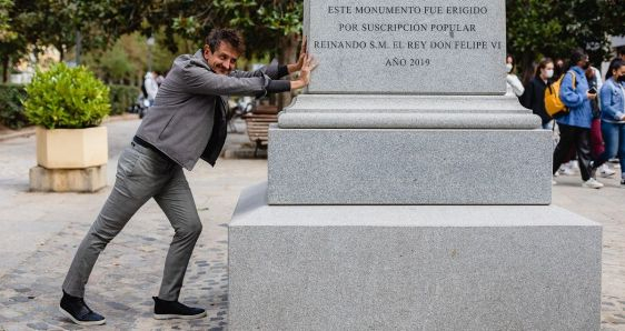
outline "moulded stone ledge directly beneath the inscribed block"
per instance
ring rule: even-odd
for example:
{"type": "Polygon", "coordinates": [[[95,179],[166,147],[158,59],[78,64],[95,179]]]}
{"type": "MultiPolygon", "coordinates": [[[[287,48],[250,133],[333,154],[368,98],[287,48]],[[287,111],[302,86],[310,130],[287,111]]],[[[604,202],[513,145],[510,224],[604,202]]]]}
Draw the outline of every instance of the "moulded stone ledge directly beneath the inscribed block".
{"type": "Polygon", "coordinates": [[[537,129],[540,118],[507,96],[300,94],[281,129],[537,129]]]}

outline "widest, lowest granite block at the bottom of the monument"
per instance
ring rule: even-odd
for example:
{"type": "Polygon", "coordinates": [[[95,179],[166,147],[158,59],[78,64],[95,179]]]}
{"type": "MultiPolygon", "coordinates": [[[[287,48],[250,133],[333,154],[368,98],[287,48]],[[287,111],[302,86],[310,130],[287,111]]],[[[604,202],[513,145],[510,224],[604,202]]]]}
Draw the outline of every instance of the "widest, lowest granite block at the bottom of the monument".
{"type": "Polygon", "coordinates": [[[268,205],[229,227],[229,330],[599,330],[602,228],[546,205],[268,205]]]}

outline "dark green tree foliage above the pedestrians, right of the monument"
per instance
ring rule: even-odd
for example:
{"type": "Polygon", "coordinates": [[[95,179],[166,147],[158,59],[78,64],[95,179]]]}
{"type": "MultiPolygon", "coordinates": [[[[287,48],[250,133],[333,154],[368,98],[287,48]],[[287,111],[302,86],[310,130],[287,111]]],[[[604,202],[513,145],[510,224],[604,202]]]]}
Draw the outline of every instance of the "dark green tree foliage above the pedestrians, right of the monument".
{"type": "Polygon", "coordinates": [[[567,59],[575,48],[598,64],[609,56],[608,34],[625,34],[623,0],[507,0],[506,9],[508,52],[526,73],[542,57],[567,59]]]}

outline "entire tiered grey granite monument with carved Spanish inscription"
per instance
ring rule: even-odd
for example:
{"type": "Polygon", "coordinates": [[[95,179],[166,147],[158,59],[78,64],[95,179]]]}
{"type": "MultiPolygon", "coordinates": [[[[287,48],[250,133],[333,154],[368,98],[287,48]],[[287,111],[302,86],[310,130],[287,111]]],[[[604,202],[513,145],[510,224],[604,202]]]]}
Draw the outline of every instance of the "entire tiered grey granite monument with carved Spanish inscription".
{"type": "Polygon", "coordinates": [[[319,59],[229,227],[230,330],[598,330],[602,229],[550,204],[504,0],[308,0],[319,59]]]}

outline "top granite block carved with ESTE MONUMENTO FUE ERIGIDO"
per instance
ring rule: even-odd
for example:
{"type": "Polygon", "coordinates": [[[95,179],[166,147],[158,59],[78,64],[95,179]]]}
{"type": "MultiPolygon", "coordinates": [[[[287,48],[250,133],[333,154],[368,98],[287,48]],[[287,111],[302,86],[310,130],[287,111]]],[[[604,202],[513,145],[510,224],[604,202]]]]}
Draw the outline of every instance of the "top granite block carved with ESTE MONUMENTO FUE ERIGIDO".
{"type": "Polygon", "coordinates": [[[505,93],[504,0],[306,0],[304,17],[310,93],[505,93]]]}

